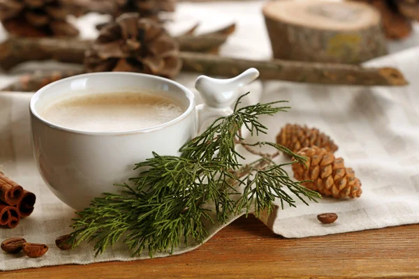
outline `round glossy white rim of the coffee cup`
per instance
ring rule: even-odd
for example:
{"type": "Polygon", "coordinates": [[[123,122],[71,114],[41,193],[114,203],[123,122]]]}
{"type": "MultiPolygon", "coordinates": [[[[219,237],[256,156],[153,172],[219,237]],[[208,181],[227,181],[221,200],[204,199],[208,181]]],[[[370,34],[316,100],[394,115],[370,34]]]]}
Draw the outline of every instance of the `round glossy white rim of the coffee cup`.
{"type": "Polygon", "coordinates": [[[126,72],[87,73],[87,74],[75,75],[73,77],[67,77],[67,78],[62,79],[62,80],[57,80],[56,82],[52,82],[51,84],[48,84],[48,85],[44,86],[43,88],[39,89],[38,91],[36,91],[34,96],[32,96],[31,103],[29,105],[29,109],[31,111],[31,114],[33,114],[38,120],[42,121],[47,126],[50,126],[52,128],[56,128],[57,130],[64,130],[66,132],[77,133],[77,134],[82,134],[82,135],[126,135],[126,134],[136,134],[136,133],[149,133],[149,132],[152,132],[154,130],[161,130],[163,128],[166,128],[167,126],[171,126],[174,123],[178,123],[179,121],[182,121],[182,119],[186,118],[186,116],[191,114],[191,112],[194,110],[194,108],[195,108],[195,96],[193,95],[191,90],[187,89],[182,84],[179,84],[178,82],[174,82],[172,80],[168,80],[164,77],[157,77],[156,75],[147,75],[147,74],[140,74],[140,73],[126,73],[126,72]],[[45,93],[45,91],[48,91],[52,86],[54,86],[58,83],[64,82],[64,81],[77,80],[77,79],[82,78],[82,77],[91,77],[91,76],[95,76],[95,75],[102,75],[104,77],[107,76],[107,75],[110,75],[110,76],[112,76],[112,75],[131,75],[131,76],[135,76],[135,77],[144,77],[144,78],[149,78],[149,79],[153,79],[153,80],[158,80],[158,81],[160,81],[162,83],[166,83],[166,84],[172,84],[173,86],[176,86],[183,91],[186,98],[188,98],[188,100],[189,100],[189,106],[181,115],[177,116],[177,118],[172,119],[172,120],[170,120],[166,123],[163,123],[161,125],[154,126],[154,127],[151,127],[151,128],[138,129],[138,130],[127,130],[127,131],[119,131],[119,132],[90,132],[90,131],[77,130],[77,129],[73,129],[73,128],[67,128],[67,127],[64,127],[64,126],[59,126],[59,125],[54,124],[50,121],[47,121],[46,119],[43,119],[43,117],[41,115],[39,115],[38,112],[36,111],[36,109],[35,109],[36,103],[41,98],[42,94],[45,93]]]}

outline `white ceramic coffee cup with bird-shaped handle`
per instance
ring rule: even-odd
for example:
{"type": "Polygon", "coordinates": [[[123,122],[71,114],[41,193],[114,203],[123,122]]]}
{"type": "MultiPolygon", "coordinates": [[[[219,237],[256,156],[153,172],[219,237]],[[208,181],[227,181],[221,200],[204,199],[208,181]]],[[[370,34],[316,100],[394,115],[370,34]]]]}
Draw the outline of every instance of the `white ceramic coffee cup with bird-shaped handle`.
{"type": "Polygon", "coordinates": [[[193,93],[177,82],[137,73],[92,73],[49,84],[31,98],[31,141],[39,172],[52,193],[75,210],[89,206],[102,193],[115,193],[114,183],[138,174],[135,163],[159,155],[179,155],[179,148],[195,137],[204,121],[232,113],[240,87],[255,80],[251,68],[229,80],[200,76],[196,89],[204,104],[196,106],[193,93]],[[66,96],[92,93],[164,92],[186,110],[162,125],[127,132],[85,132],[46,121],[43,110],[66,96]]]}

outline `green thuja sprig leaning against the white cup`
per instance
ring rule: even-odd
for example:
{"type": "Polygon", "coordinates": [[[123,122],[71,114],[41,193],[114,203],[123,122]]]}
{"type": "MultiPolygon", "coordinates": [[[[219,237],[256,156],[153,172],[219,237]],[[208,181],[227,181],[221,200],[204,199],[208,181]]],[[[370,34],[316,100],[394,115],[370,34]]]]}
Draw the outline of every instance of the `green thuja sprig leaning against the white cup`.
{"type": "Polygon", "coordinates": [[[121,195],[105,193],[95,198],[74,220],[68,243],[75,247],[82,241],[94,241],[98,255],[122,240],[133,255],[147,250],[152,257],[156,252],[173,252],[182,242],[202,242],[207,236],[206,223],[226,223],[243,209],[259,216],[263,210],[272,211],[275,199],[284,208],[284,204],[295,206],[293,195],[305,204],[319,197],[301,182],[292,181],[284,165],[272,160],[279,152],[294,156],[299,163],[304,163],[304,157],[272,142],[247,144],[242,137],[242,126],[251,135],[267,133],[259,116],[285,112],[289,107],[277,107],[282,102],[274,102],[238,108],[241,98],[233,114],[216,119],[203,134],[184,144],[181,156],[153,153],[152,158],[136,164],[137,177],[117,185],[121,195]],[[244,156],[236,151],[237,144],[260,159],[242,165],[244,156]],[[263,145],[277,153],[254,149],[263,145]]]}

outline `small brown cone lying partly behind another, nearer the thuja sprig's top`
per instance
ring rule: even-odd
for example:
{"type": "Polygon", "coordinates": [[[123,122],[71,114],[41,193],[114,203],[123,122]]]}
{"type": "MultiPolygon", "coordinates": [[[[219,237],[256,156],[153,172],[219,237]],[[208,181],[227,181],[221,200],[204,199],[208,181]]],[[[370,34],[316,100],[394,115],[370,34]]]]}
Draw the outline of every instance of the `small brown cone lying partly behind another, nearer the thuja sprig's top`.
{"type": "Polygon", "coordinates": [[[307,126],[286,124],[277,135],[277,144],[285,146],[294,153],[303,147],[318,146],[325,148],[328,152],[335,153],[337,145],[330,140],[330,137],[321,133],[316,128],[307,126]]]}

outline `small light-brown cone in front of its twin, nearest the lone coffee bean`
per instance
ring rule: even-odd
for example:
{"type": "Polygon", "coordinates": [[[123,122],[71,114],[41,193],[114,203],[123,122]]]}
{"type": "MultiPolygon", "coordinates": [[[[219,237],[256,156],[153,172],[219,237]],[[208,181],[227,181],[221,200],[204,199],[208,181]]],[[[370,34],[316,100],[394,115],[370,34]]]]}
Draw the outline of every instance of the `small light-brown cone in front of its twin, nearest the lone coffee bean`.
{"type": "Polygon", "coordinates": [[[332,153],[317,146],[305,147],[297,154],[308,157],[309,169],[304,164],[293,164],[295,179],[312,180],[312,182],[303,183],[303,186],[325,196],[360,197],[361,182],[355,177],[353,169],[345,168],[344,159],[335,158],[332,153]]]}

